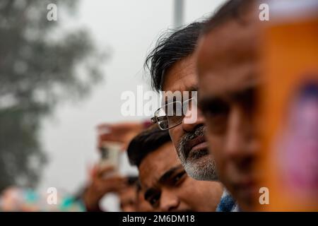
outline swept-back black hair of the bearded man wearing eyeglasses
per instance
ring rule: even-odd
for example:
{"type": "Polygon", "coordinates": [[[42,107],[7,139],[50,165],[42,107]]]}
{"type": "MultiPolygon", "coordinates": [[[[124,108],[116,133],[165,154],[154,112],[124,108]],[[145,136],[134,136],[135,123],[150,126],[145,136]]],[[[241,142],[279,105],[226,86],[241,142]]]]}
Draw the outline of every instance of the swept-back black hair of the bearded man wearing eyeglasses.
{"type": "Polygon", "coordinates": [[[151,73],[151,86],[154,90],[162,90],[167,69],[194,52],[202,28],[204,22],[196,22],[181,30],[172,30],[161,35],[155,49],[148,54],[145,61],[145,67],[151,73]]]}

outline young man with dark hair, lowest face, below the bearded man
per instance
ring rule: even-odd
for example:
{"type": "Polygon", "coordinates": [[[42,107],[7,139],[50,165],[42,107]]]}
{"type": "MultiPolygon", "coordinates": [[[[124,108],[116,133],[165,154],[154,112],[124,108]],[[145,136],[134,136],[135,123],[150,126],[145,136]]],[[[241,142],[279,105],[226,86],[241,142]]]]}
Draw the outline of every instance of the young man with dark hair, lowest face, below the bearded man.
{"type": "Polygon", "coordinates": [[[146,201],[158,211],[215,211],[223,186],[189,177],[174,149],[169,133],[156,127],[129,144],[129,160],[139,168],[146,201]]]}

